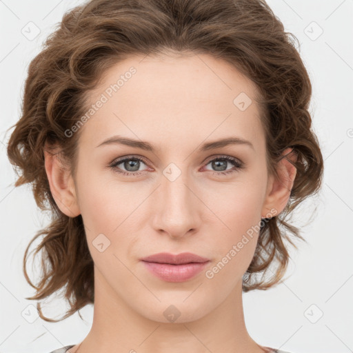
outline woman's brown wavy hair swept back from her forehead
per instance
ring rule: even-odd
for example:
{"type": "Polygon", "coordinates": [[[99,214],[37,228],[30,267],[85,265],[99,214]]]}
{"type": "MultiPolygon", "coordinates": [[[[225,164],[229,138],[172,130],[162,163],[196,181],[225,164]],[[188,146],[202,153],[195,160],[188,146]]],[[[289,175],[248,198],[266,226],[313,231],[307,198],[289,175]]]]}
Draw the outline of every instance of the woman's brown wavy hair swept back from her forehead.
{"type": "Polygon", "coordinates": [[[41,319],[61,321],[94,303],[93,260],[83,220],[81,214],[70,217],[57,207],[43,149],[58,154],[76,175],[80,132],[68,138],[65,130],[88,110],[88,92],[105,70],[133,54],[211,54],[256,84],[268,171],[277,175],[281,153],[292,147],[297,159],[291,163],[297,172],[285,210],[261,222],[243,292],[266,290],[281,280],[290,259],[285,241],[294,248],[292,239],[305,241],[285,218],[307,196],[319,192],[323,177],[323,157],[308,111],[312,86],[298,42],[262,0],[92,0],[63,15],[30,62],[21,119],[10,127],[15,128],[7,149],[18,177],[14,185],[31,183],[38,207],[51,216],[50,225],[37,232],[23,257],[26,280],[36,290],[26,299],[44,299],[63,289],[70,304],[65,316],[54,320],[43,316],[38,302],[41,319]],[[43,239],[34,256],[41,252],[42,273],[34,285],[26,263],[30,245],[39,236],[43,239]],[[273,263],[276,268],[269,276],[273,263]]]}

